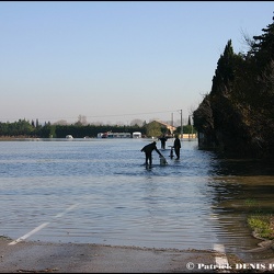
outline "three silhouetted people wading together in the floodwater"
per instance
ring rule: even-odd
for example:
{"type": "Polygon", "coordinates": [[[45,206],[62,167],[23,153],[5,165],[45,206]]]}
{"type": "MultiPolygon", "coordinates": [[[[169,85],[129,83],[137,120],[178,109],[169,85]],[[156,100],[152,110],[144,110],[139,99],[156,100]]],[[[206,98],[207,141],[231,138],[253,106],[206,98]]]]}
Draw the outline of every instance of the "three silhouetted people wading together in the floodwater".
{"type": "MultiPolygon", "coordinates": [[[[161,149],[165,149],[165,142],[168,140],[168,138],[163,135],[159,138],[159,140],[161,141],[161,149]]],[[[174,152],[175,152],[175,156],[176,156],[176,159],[175,160],[179,160],[180,159],[180,150],[181,150],[181,140],[179,139],[179,135],[176,134],[175,135],[175,139],[173,141],[173,146],[171,146],[171,149],[174,149],[174,152]]],[[[151,144],[149,145],[146,145],[140,151],[141,152],[145,152],[146,155],[146,165],[149,165],[151,167],[152,164],[152,151],[156,151],[160,158],[164,159],[163,155],[160,152],[160,150],[157,148],[157,145],[156,145],[156,141],[152,141],[151,144]]]]}

